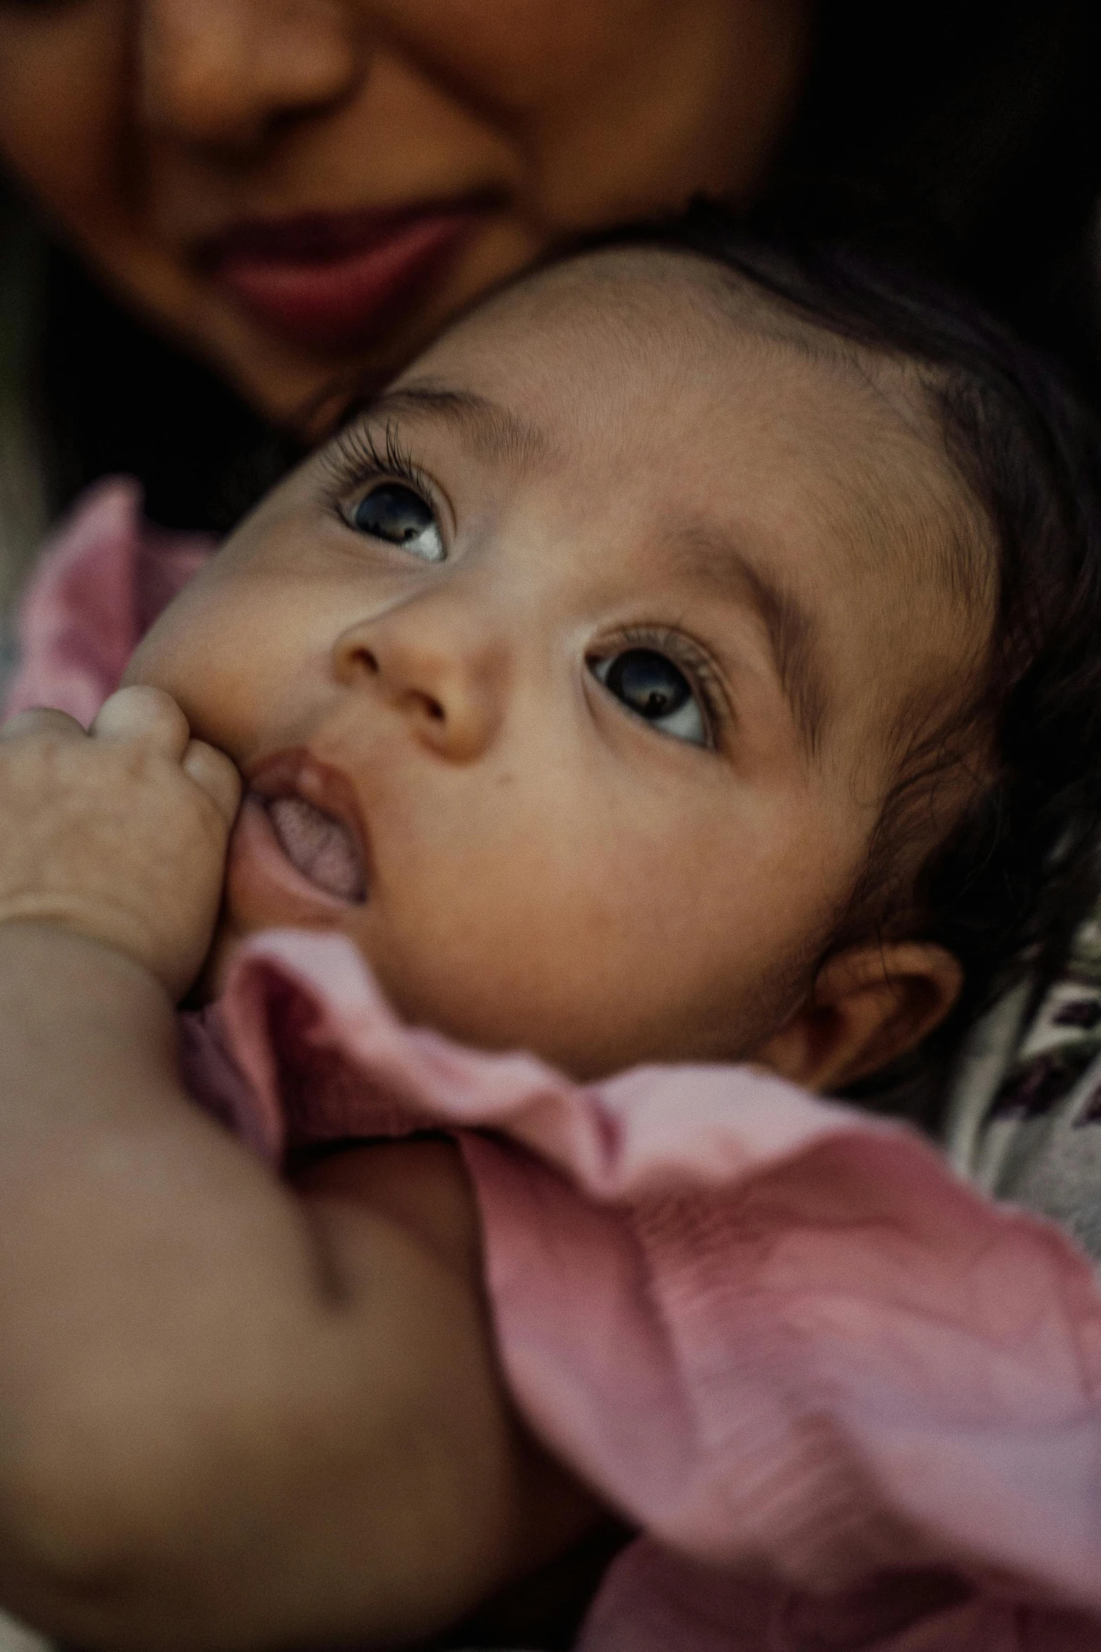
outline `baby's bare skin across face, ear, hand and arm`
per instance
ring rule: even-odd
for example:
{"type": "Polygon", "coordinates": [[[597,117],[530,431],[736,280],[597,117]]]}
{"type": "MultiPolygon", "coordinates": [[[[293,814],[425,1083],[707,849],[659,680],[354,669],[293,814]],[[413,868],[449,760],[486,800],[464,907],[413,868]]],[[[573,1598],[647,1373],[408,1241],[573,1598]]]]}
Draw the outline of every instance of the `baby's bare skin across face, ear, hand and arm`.
{"type": "Polygon", "coordinates": [[[399,380],[390,476],[357,430],[261,506],[91,737],[3,730],[0,1601],[58,1639],[399,1645],[505,1591],[538,1645],[517,1581],[607,1513],[510,1408],[449,1143],[287,1184],[188,1105],[172,1001],[211,933],[213,986],[258,927],[342,930],[404,1014],[578,1074],[830,1085],[949,1008],[934,947],[817,960],[893,720],[990,613],[943,578],[959,484],[906,372],[809,342],[688,259],[528,282],[399,380]],[[355,525],[383,482],[413,542],[355,525]],[[680,733],[601,677],[640,639],[706,682],[680,733]],[[370,843],[365,900],[258,786],[370,843]]]}

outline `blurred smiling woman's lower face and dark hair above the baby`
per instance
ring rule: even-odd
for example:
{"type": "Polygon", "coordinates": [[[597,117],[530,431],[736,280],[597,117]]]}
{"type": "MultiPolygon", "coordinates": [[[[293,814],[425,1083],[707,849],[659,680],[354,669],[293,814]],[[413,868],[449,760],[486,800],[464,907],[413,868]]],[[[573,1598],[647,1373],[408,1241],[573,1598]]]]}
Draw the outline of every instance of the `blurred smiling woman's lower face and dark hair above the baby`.
{"type": "Polygon", "coordinates": [[[315,436],[487,284],[697,190],[875,223],[1042,329],[1101,175],[1094,10],[0,0],[0,165],[51,231],[50,507],[124,469],[220,527],[272,428],[315,436]]]}

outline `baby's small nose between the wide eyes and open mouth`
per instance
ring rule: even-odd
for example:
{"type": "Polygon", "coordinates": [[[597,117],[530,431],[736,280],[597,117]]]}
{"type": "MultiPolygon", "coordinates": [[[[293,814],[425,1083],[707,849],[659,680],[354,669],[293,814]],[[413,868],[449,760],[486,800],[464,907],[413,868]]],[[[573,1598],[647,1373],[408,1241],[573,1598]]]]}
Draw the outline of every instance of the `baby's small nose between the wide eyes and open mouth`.
{"type": "Polygon", "coordinates": [[[390,705],[413,737],[452,763],[490,747],[508,694],[508,649],[454,616],[411,603],[348,626],[333,644],[333,676],[390,705]]]}

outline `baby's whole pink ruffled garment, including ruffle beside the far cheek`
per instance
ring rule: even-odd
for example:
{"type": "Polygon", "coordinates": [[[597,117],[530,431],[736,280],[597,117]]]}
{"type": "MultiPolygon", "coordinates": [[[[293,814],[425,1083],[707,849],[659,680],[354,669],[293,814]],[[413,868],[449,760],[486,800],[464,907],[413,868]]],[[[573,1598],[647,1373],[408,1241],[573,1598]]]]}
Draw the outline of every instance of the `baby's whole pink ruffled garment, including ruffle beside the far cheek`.
{"type": "MultiPolygon", "coordinates": [[[[15,705],[94,714],[149,560],[111,484],[28,596],[15,705]]],[[[576,1087],[403,1028],[337,937],[256,938],[182,1036],[271,1160],[457,1133],[515,1403],[645,1533],[581,1652],[1101,1652],[1101,1297],[1051,1224],[751,1069],[576,1087]]]]}

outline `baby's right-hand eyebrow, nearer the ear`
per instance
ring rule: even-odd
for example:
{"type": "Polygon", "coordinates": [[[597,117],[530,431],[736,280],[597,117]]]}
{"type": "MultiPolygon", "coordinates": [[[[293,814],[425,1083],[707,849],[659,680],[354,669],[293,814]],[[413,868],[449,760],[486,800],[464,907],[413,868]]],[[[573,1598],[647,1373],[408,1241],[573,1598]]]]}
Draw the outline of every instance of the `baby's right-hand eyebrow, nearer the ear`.
{"type": "Polygon", "coordinates": [[[764,626],[784,699],[810,757],[819,752],[827,710],[822,626],[799,596],[777,585],[721,532],[695,525],[675,537],[678,572],[697,585],[748,603],[764,626]]]}

